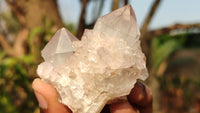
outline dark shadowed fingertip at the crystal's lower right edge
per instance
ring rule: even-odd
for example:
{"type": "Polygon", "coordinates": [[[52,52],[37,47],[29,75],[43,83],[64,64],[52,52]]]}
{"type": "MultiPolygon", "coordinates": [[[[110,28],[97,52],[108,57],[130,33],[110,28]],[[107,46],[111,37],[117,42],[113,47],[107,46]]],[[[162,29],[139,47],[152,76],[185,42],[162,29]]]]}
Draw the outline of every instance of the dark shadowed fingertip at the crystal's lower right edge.
{"type": "Polygon", "coordinates": [[[135,84],[127,97],[132,105],[137,106],[140,113],[152,113],[152,92],[141,82],[135,84]]]}

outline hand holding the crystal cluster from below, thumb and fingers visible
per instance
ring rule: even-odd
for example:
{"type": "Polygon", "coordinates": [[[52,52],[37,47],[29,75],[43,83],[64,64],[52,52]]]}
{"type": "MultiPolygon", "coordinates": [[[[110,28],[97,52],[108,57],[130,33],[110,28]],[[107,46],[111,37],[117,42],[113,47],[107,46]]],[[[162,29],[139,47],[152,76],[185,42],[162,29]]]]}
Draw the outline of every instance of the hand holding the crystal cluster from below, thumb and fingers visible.
{"type": "MultiPolygon", "coordinates": [[[[67,106],[58,102],[58,93],[51,85],[37,78],[32,87],[41,113],[72,113],[67,106]]],[[[152,113],[152,93],[142,83],[137,82],[127,97],[127,102],[106,105],[101,113],[152,113]]]]}

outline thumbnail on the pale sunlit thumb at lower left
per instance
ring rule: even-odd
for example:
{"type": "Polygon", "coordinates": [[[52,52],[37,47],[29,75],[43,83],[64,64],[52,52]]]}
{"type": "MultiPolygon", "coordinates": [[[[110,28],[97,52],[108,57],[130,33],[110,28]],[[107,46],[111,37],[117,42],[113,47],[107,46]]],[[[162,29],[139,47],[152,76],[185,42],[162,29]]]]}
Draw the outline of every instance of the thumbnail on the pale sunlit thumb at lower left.
{"type": "Polygon", "coordinates": [[[37,91],[35,91],[35,96],[39,102],[40,108],[47,109],[47,101],[45,100],[45,98],[37,91]]]}

